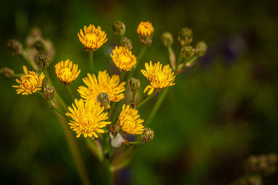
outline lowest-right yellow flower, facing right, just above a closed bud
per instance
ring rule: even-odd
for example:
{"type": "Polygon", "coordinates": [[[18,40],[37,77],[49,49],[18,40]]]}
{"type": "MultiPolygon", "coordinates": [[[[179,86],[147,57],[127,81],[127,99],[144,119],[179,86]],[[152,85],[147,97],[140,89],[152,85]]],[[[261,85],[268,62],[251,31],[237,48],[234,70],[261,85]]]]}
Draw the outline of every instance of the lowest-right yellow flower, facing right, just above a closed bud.
{"type": "Polygon", "coordinates": [[[129,134],[141,134],[144,129],[144,120],[140,119],[138,110],[131,108],[129,105],[122,105],[122,112],[119,116],[119,123],[122,130],[129,134]]]}

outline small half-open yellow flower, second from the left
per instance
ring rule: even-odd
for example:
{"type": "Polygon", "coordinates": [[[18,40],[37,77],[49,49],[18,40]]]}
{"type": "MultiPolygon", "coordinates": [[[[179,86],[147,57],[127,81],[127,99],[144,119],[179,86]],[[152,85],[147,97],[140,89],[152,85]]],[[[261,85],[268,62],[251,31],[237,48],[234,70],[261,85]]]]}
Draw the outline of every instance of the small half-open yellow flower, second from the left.
{"type": "Polygon", "coordinates": [[[71,82],[73,82],[79,76],[80,72],[81,70],[78,70],[78,65],[72,65],[72,61],[69,59],[67,59],[65,62],[61,61],[58,64],[55,64],[56,76],[64,85],[69,85],[71,82]]]}

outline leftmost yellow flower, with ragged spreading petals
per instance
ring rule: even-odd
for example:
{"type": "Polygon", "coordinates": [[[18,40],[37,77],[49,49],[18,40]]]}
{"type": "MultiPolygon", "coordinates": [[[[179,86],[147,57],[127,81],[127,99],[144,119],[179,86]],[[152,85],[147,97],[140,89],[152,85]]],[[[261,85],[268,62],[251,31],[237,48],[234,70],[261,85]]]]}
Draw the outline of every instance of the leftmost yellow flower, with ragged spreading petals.
{"type": "Polygon", "coordinates": [[[42,80],[44,79],[44,73],[38,76],[38,73],[34,71],[27,71],[26,66],[23,66],[24,75],[21,76],[20,80],[15,79],[19,85],[13,85],[18,88],[17,94],[28,95],[39,91],[42,87],[42,80]]]}

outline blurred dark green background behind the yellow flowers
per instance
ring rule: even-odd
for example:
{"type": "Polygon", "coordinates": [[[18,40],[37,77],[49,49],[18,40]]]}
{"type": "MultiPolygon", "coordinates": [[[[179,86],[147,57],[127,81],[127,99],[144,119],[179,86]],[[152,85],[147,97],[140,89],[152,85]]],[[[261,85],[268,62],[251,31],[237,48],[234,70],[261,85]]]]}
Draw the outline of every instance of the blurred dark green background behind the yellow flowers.
{"type": "MultiPolygon", "coordinates": [[[[161,34],[193,29],[193,45],[208,44],[208,52],[182,73],[152,121],[154,140],[138,148],[129,168],[117,173],[117,184],[229,184],[244,174],[250,155],[278,153],[278,16],[275,1],[1,1],[0,67],[17,73],[24,64],[7,54],[8,39],[25,39],[33,27],[42,30],[56,48],[50,69],[58,91],[54,64],[79,64],[76,89],[88,73],[88,53],[77,32],[95,24],[108,42],[95,53],[97,70],[111,66],[111,50],[119,43],[112,31],[115,20],[126,24],[126,36],[138,55],[140,21],[151,21],[153,43],[142,62],[167,64],[161,34]]],[[[142,89],[147,80],[140,74],[142,89]]],[[[81,184],[62,127],[38,94],[17,95],[11,78],[0,78],[1,184],[81,184]]],[[[66,91],[65,91],[66,92],[66,91]]],[[[70,95],[65,93],[70,105],[70,95]]],[[[77,94],[76,94],[77,96],[77,94]]],[[[145,94],[140,94],[144,98],[145,94]]],[[[142,111],[142,118],[153,100],[142,111]]],[[[97,160],[77,139],[90,179],[103,184],[97,160]]],[[[263,179],[278,184],[278,173],[263,179]]]]}

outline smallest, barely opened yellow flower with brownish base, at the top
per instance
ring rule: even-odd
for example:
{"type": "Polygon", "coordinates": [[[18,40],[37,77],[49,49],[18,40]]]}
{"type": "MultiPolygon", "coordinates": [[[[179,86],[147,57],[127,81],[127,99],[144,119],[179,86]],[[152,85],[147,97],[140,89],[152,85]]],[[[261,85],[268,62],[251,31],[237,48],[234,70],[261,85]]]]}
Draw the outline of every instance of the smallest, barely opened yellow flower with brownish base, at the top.
{"type": "Polygon", "coordinates": [[[152,34],[154,33],[154,27],[149,21],[141,21],[137,28],[137,33],[142,44],[149,45],[152,43],[152,34]]]}

